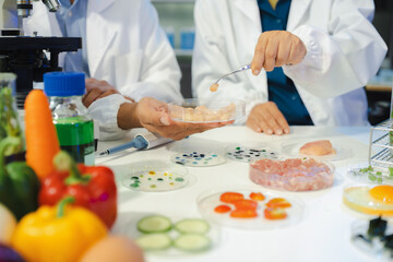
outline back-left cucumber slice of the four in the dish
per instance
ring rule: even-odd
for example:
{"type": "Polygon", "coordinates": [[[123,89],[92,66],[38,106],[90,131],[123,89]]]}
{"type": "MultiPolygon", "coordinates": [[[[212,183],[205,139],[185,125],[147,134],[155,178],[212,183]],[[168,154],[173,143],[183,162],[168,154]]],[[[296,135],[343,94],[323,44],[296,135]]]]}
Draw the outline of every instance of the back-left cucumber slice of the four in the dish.
{"type": "Polygon", "coordinates": [[[146,216],[138,222],[138,230],[141,233],[166,233],[171,229],[171,222],[162,215],[146,216]]]}

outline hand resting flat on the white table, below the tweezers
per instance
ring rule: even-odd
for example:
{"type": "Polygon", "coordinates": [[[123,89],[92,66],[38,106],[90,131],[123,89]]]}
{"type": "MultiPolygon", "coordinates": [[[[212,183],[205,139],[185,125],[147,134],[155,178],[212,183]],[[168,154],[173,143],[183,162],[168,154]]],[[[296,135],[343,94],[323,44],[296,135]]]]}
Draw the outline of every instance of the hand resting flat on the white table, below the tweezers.
{"type": "Polygon", "coordinates": [[[289,126],[285,117],[273,102],[254,106],[247,119],[247,127],[265,134],[289,133],[289,126]]]}

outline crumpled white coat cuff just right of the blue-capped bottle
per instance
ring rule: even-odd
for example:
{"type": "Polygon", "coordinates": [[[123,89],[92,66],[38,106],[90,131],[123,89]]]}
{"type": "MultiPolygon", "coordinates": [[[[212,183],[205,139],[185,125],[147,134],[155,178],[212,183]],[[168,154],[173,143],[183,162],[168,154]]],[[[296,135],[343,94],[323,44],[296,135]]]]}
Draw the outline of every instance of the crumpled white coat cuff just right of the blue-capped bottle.
{"type": "Polygon", "coordinates": [[[119,108],[124,103],[131,103],[122,95],[114,94],[99,98],[87,108],[88,114],[99,124],[100,140],[121,139],[128,130],[120,129],[117,123],[119,108]]]}

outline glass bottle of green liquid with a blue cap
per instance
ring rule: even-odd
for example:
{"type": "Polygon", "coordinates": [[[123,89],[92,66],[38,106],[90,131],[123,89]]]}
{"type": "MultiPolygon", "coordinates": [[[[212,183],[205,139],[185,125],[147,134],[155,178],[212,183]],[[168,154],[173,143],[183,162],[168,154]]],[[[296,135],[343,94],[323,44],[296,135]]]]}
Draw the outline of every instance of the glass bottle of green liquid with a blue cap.
{"type": "Polygon", "coordinates": [[[49,97],[60,147],[78,163],[94,165],[94,123],[82,104],[84,73],[45,73],[44,91],[49,97]]]}

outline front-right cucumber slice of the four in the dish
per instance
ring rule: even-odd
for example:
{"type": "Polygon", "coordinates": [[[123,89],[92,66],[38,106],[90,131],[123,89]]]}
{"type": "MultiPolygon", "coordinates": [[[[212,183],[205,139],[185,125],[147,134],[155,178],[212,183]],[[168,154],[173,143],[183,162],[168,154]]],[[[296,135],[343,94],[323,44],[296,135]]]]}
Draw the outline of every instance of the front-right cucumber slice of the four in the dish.
{"type": "Polygon", "coordinates": [[[211,240],[203,235],[184,234],[175,239],[174,247],[188,252],[199,252],[207,250],[211,247],[211,240]]]}

